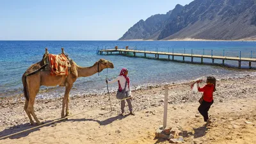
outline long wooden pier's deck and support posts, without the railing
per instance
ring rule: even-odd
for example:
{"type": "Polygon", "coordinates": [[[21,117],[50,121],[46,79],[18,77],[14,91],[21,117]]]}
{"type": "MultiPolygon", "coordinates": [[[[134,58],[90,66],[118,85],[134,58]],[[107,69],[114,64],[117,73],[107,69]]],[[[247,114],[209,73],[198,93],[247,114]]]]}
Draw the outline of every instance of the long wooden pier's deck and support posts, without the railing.
{"type": "Polygon", "coordinates": [[[128,52],[133,53],[134,56],[136,56],[136,53],[142,53],[144,54],[144,57],[146,58],[147,54],[155,54],[155,57],[159,59],[159,55],[166,55],[168,56],[168,60],[171,60],[170,57],[172,57],[172,60],[174,60],[175,56],[180,56],[183,58],[183,62],[185,61],[185,57],[191,58],[191,62],[193,62],[193,58],[201,58],[201,63],[204,63],[204,58],[211,59],[212,63],[214,63],[214,60],[222,60],[222,64],[225,64],[225,60],[232,60],[232,61],[238,61],[238,67],[241,68],[241,62],[242,61],[248,61],[249,62],[249,68],[252,68],[252,62],[256,62],[256,58],[241,58],[241,57],[232,57],[232,56],[212,56],[212,55],[200,55],[200,54],[182,54],[182,53],[174,53],[174,52],[156,52],[156,51],[137,51],[137,50],[131,50],[131,49],[102,49],[97,51],[98,54],[103,53],[112,54],[113,52],[118,52],[118,54],[128,54],[128,52]]]}

